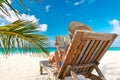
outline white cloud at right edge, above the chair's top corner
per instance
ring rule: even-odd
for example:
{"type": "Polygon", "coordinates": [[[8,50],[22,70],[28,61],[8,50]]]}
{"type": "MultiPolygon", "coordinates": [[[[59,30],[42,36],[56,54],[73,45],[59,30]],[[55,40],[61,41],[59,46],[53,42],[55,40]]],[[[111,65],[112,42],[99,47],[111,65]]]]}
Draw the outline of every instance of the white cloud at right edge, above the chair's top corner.
{"type": "Polygon", "coordinates": [[[112,33],[120,34],[120,21],[117,19],[113,19],[109,21],[109,23],[113,26],[112,33]]]}

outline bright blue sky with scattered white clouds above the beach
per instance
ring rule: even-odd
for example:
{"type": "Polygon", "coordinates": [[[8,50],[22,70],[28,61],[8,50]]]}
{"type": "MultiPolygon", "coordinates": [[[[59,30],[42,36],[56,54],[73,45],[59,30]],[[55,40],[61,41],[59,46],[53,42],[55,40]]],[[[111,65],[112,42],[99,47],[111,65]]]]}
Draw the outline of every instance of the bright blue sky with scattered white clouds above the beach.
{"type": "MultiPolygon", "coordinates": [[[[46,35],[50,46],[54,46],[56,35],[68,35],[70,22],[77,21],[89,25],[94,32],[117,33],[118,37],[112,47],[120,47],[120,0],[23,1],[28,8],[16,0],[10,0],[10,3],[22,15],[21,18],[38,22],[41,29],[38,34],[46,35]]],[[[12,18],[0,12],[6,19],[0,18],[0,25],[17,20],[15,14],[8,10],[12,18]]]]}

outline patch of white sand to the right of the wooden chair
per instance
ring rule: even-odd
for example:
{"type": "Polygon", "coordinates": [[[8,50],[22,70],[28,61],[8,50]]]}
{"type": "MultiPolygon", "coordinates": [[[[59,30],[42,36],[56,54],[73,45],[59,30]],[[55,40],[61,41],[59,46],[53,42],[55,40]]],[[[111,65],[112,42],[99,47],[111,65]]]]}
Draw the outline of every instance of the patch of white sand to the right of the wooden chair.
{"type": "Polygon", "coordinates": [[[108,51],[99,67],[106,79],[120,80],[120,51],[108,51]]]}

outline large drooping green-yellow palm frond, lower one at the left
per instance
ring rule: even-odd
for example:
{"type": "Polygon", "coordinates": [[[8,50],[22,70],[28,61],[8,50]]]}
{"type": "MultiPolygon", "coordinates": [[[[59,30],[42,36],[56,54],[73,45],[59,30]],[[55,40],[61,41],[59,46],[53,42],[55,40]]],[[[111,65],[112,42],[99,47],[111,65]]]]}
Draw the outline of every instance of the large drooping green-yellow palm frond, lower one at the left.
{"type": "Polygon", "coordinates": [[[48,55],[44,48],[48,39],[44,35],[37,34],[38,26],[32,21],[17,20],[11,24],[0,26],[0,47],[4,54],[9,54],[10,49],[14,52],[15,48],[30,50],[39,48],[48,55]]]}

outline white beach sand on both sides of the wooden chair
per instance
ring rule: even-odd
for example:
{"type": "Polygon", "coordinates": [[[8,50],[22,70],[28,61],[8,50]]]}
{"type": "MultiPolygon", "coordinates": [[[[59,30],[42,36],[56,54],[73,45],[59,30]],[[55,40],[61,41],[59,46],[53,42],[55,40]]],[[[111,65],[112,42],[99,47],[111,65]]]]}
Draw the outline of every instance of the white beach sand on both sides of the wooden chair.
{"type": "MultiPolygon", "coordinates": [[[[39,75],[39,61],[44,59],[20,54],[8,58],[0,55],[0,80],[47,80],[47,75],[39,75]]],[[[120,51],[107,51],[99,67],[107,80],[120,80],[120,51]]]]}

